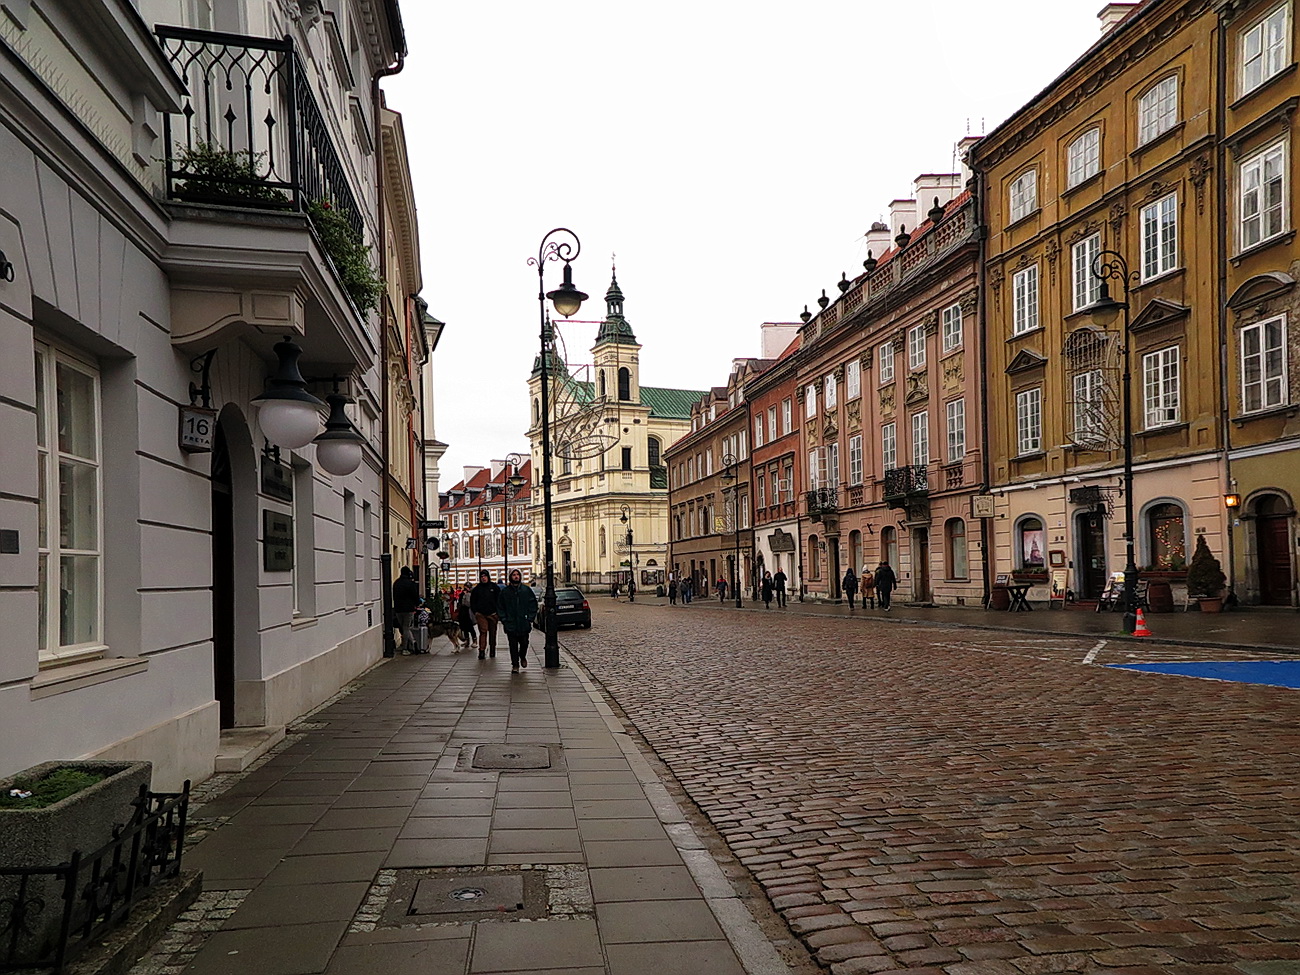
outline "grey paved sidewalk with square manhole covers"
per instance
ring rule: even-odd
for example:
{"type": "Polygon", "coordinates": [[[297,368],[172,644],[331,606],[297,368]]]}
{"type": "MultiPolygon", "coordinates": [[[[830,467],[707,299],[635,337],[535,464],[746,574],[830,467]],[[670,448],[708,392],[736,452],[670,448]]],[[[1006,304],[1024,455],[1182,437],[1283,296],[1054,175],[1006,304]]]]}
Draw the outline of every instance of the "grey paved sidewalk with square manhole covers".
{"type": "Polygon", "coordinates": [[[788,971],[614,712],[541,659],[387,660],[194,818],[204,894],[135,972],[788,971]]]}

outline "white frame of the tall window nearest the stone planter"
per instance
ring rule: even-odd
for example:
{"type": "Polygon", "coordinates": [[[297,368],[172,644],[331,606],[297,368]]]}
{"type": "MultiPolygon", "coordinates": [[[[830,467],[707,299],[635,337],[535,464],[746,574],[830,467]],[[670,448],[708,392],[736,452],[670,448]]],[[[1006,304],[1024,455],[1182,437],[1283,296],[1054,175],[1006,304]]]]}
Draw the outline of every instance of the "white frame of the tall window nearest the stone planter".
{"type": "MultiPolygon", "coordinates": [[[[38,439],[36,463],[42,477],[39,493],[44,503],[38,506],[38,520],[43,517],[44,545],[38,534],[36,562],[44,563],[44,595],[38,608],[38,632],[43,632],[43,645],[38,646],[42,664],[65,662],[70,658],[100,655],[104,649],[104,410],[99,369],[68,351],[46,343],[35,342],[35,352],[40,355],[40,402],[36,403],[38,422],[43,429],[44,443],[38,439]],[[95,448],[94,456],[82,456],[58,447],[58,367],[70,369],[91,382],[91,425],[90,439],[95,448]],[[92,472],[95,537],[94,549],[64,546],[60,538],[62,524],[60,504],[64,491],[60,489],[60,468],[69,464],[92,472]],[[43,510],[42,510],[43,508],[43,510]],[[95,564],[95,618],[94,633],[90,640],[64,644],[61,619],[61,594],[64,586],[62,559],[92,559],[95,564]]],[[[32,361],[35,369],[35,360],[32,361]]],[[[40,642],[40,641],[38,641],[40,642]]]]}

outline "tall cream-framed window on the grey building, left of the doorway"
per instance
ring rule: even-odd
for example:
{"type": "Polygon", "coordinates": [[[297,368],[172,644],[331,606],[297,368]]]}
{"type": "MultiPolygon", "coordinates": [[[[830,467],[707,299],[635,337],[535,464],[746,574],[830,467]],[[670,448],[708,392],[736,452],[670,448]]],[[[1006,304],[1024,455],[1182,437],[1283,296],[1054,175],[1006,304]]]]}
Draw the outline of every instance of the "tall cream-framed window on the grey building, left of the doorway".
{"type": "Polygon", "coordinates": [[[103,642],[99,374],[36,343],[36,589],[43,659],[103,642]]]}

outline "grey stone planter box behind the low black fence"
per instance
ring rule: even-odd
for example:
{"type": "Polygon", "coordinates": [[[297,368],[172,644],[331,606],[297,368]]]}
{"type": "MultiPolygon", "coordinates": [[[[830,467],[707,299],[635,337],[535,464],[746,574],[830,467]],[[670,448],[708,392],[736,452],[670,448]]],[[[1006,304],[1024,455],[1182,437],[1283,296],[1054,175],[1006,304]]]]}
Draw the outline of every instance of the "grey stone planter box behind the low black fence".
{"type": "MultiPolygon", "coordinates": [[[[57,866],[70,861],[75,850],[94,853],[113,838],[114,826],[131,820],[135,812],[131,800],[139,796],[142,785],[148,788],[152,775],[148,762],[47,762],[0,780],[0,794],[8,794],[16,780],[40,779],[56,768],[99,772],[107,777],[44,809],[0,809],[0,870],[57,866]]],[[[21,880],[0,876],[0,928],[10,922],[21,880]]],[[[0,961],[34,961],[57,940],[62,883],[52,876],[29,878],[25,902],[32,904],[32,898],[40,898],[43,905],[39,914],[27,911],[17,957],[6,957],[6,944],[0,961]]]]}

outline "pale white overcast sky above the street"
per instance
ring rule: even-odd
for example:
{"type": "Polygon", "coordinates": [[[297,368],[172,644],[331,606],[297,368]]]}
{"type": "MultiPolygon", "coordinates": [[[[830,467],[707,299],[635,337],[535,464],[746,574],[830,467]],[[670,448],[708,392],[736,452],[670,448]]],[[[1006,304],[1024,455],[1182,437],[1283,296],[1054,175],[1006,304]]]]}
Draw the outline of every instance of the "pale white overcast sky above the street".
{"type": "MultiPolygon", "coordinates": [[[[403,114],[443,490],[528,451],[542,238],[581,240],[598,321],[616,255],[646,386],[723,385],[759,325],[862,270],[862,237],[956,143],[1098,34],[1102,0],[404,0],[403,114]]],[[[926,205],[920,207],[927,209],[926,205]]],[[[547,291],[560,265],[546,265],[547,291]]],[[[595,324],[562,325],[589,363],[595,324]]]]}

